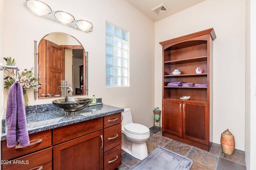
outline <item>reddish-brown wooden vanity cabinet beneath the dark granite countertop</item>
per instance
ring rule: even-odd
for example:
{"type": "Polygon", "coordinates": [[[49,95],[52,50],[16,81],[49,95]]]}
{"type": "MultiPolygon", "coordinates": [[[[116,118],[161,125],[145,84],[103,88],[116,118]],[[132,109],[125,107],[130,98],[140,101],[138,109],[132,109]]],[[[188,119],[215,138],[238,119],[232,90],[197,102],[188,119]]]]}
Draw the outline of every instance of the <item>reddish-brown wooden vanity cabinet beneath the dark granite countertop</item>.
{"type": "Polygon", "coordinates": [[[121,113],[30,134],[30,143],[19,149],[2,141],[3,170],[113,170],[121,164],[121,113]],[[23,160],[23,161],[22,161],[23,160]],[[26,164],[28,160],[29,164],[26,164]]]}

